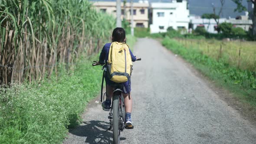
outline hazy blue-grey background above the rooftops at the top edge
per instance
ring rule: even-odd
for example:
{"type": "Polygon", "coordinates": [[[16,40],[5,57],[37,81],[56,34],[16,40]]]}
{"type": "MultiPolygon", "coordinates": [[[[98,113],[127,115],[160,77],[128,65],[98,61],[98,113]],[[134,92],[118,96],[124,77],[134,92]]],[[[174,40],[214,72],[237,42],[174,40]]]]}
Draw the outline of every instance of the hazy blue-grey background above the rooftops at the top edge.
{"type": "MultiPolygon", "coordinates": [[[[115,0],[91,0],[91,1],[115,1],[115,0]]],[[[121,0],[123,1],[123,0],[121,0]]],[[[138,2],[138,0],[133,0],[134,2],[138,2]]],[[[149,2],[169,2],[170,0],[148,0],[149,2]]],[[[127,0],[129,2],[129,0],[127,0]]],[[[217,9],[217,12],[220,8],[220,0],[189,0],[190,3],[190,14],[195,14],[201,16],[203,13],[213,13],[212,3],[217,9]]],[[[247,7],[246,0],[243,0],[243,5],[247,7]]],[[[234,10],[236,8],[236,4],[233,3],[232,0],[225,0],[225,4],[223,7],[223,12],[220,17],[224,18],[235,18],[239,15],[244,15],[245,13],[235,13],[234,10]]]]}

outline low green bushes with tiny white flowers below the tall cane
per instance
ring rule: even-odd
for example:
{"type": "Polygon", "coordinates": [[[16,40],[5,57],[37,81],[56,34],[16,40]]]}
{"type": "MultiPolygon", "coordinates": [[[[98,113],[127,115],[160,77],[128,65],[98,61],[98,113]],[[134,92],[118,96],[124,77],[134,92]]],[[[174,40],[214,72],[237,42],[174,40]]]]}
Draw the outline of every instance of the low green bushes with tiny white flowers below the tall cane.
{"type": "Polygon", "coordinates": [[[60,143],[97,95],[101,72],[87,60],[58,79],[1,88],[0,143],[60,143]]]}

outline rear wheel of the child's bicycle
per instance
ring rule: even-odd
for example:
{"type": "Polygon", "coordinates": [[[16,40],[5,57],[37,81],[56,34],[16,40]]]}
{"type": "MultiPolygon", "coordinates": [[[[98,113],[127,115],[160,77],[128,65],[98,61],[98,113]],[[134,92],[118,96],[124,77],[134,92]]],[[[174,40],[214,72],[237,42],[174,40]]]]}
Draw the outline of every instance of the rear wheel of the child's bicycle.
{"type": "Polygon", "coordinates": [[[119,144],[119,97],[113,96],[113,144],[119,144]]]}

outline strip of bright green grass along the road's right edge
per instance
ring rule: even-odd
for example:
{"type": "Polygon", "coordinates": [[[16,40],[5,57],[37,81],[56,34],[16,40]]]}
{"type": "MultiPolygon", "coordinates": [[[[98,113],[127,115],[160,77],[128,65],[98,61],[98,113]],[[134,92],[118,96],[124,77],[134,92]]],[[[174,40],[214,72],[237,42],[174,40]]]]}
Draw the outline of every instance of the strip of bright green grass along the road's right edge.
{"type": "Polygon", "coordinates": [[[220,85],[237,93],[239,98],[256,108],[256,72],[233,67],[220,58],[214,59],[201,49],[185,47],[175,39],[164,38],[162,44],[172,52],[181,55],[220,85]]]}

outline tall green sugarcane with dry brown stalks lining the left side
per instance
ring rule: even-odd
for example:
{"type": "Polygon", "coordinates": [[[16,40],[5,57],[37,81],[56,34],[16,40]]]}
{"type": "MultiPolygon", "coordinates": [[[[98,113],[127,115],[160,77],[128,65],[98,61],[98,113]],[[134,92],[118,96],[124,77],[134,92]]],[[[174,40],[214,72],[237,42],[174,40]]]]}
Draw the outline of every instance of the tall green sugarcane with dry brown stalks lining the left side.
{"type": "Polygon", "coordinates": [[[98,52],[114,26],[88,0],[0,0],[0,85],[58,74],[98,52]]]}

